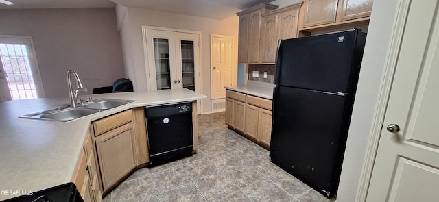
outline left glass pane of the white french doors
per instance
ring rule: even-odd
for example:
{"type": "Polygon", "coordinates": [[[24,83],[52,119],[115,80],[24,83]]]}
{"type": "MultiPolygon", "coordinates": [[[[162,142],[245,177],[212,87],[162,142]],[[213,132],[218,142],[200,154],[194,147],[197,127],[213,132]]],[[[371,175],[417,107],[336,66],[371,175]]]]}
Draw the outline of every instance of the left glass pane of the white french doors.
{"type": "Polygon", "coordinates": [[[154,60],[156,63],[157,90],[171,89],[169,40],[154,38],[154,60]]]}

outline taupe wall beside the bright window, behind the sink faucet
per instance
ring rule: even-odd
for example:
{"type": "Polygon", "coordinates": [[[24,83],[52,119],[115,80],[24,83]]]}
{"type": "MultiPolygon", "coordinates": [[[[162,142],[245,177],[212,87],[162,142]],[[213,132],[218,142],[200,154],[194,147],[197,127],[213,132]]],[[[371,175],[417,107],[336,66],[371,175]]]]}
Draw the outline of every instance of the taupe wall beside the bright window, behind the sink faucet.
{"type": "Polygon", "coordinates": [[[69,69],[89,93],[125,77],[114,8],[1,10],[0,34],[32,36],[46,97],[67,97],[69,69]]]}

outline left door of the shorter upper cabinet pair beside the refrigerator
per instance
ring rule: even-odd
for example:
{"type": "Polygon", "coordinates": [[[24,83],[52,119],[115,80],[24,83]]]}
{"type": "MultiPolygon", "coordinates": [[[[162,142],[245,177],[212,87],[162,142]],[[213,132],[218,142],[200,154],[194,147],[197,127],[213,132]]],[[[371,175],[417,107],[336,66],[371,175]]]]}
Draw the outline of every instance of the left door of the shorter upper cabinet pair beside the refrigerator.
{"type": "MultiPolygon", "coordinates": [[[[274,63],[276,61],[278,14],[262,18],[261,29],[261,62],[274,63]]],[[[280,28],[280,27],[279,27],[280,28]]]]}

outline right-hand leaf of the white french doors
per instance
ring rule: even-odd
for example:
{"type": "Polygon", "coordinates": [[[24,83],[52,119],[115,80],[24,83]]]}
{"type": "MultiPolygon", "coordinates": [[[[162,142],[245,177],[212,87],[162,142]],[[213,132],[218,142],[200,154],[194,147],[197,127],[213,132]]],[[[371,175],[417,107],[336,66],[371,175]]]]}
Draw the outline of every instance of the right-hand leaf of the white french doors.
{"type": "Polygon", "coordinates": [[[195,77],[200,66],[200,36],[198,34],[175,33],[176,38],[176,77],[174,84],[176,88],[187,88],[195,91],[195,77]]]}

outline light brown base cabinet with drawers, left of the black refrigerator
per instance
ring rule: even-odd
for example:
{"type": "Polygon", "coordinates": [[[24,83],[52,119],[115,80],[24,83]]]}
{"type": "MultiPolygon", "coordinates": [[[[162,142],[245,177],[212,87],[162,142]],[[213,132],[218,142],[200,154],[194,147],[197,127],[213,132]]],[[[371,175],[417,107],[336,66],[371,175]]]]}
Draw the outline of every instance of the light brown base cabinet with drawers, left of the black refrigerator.
{"type": "Polygon", "coordinates": [[[270,149],[272,101],[226,90],[226,124],[265,149],[270,149]]]}

